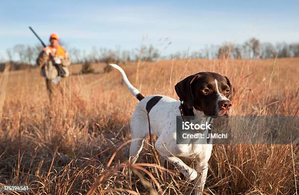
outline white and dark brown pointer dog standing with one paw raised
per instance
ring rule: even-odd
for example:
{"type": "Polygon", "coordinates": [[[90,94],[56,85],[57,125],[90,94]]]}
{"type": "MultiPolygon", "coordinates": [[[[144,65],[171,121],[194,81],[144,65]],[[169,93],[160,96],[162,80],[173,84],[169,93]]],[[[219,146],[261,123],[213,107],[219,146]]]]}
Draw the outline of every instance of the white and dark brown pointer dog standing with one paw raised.
{"type": "MultiPolygon", "coordinates": [[[[155,149],[161,156],[161,165],[165,159],[176,166],[189,180],[195,180],[196,194],[203,191],[207,172],[208,160],[212,153],[212,144],[176,144],[176,116],[208,116],[230,115],[231,100],[235,89],[226,76],[214,72],[199,72],[191,75],[175,85],[175,91],[183,101],[177,101],[165,95],[150,95],[144,97],[133,87],[124,70],[115,64],[129,91],[140,101],[133,113],[130,130],[131,137],[144,138],[149,134],[149,124],[152,134],[157,135],[155,149]],[[180,157],[195,159],[196,169],[187,166],[180,157]],[[199,178],[200,177],[200,178],[199,178]]],[[[211,121],[211,120],[210,120],[211,121]]],[[[130,145],[129,156],[135,163],[142,150],[142,140],[133,141],[130,145]]]]}

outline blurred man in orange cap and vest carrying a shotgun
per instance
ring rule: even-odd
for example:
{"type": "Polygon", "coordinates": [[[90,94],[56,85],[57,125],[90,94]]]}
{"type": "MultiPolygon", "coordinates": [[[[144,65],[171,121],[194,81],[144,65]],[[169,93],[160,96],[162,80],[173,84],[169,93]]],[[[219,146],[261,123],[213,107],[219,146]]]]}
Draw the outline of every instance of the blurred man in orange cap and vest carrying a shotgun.
{"type": "Polygon", "coordinates": [[[51,34],[50,45],[43,48],[43,51],[37,59],[37,65],[40,66],[41,74],[45,77],[46,87],[51,102],[57,95],[61,80],[64,80],[64,77],[69,76],[67,66],[70,65],[70,58],[65,49],[58,43],[59,36],[57,34],[51,34]],[[59,71],[59,66],[62,67],[65,74],[62,74],[61,71],[59,71]]]}

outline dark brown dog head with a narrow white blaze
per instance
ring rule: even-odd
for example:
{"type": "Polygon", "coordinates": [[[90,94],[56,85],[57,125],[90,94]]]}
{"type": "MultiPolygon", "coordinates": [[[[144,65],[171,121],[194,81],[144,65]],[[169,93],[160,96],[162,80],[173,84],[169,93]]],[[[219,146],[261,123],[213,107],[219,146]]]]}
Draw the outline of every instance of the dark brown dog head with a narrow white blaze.
{"type": "Polygon", "coordinates": [[[226,76],[214,72],[199,72],[175,85],[180,100],[188,108],[202,111],[206,116],[231,115],[235,88],[226,76]]]}

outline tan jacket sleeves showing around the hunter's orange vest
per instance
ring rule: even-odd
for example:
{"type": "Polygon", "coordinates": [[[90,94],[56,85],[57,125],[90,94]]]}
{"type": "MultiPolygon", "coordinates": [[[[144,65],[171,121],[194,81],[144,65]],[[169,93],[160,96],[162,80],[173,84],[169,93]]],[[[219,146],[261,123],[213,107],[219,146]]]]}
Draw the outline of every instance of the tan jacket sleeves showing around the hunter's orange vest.
{"type": "MultiPolygon", "coordinates": [[[[68,77],[69,70],[67,66],[70,65],[70,58],[66,52],[64,53],[64,56],[58,56],[58,57],[61,58],[61,65],[66,73],[64,77],[68,77]]],[[[51,80],[58,77],[57,68],[54,66],[52,60],[50,59],[49,56],[46,55],[44,51],[42,51],[39,54],[36,64],[40,67],[40,72],[43,77],[51,80]]]]}

